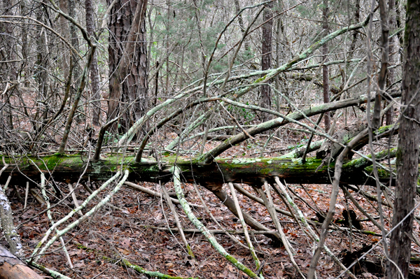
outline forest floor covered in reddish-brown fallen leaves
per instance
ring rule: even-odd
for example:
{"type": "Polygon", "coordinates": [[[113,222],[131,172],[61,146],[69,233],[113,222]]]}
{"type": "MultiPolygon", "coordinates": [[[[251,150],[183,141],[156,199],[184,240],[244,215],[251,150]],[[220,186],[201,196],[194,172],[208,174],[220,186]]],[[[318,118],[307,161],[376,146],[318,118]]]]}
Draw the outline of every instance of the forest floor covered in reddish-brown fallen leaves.
{"type": "MultiPolygon", "coordinates": [[[[293,131],[291,133],[288,135],[288,138],[297,143],[299,139],[293,138],[293,131]]],[[[259,153],[258,150],[265,143],[266,138],[261,136],[255,138],[253,143],[248,141],[248,143],[237,145],[223,155],[227,157],[237,155],[255,157],[255,154],[259,153]]],[[[213,144],[216,145],[217,143],[213,144]]],[[[272,148],[272,150],[268,150],[269,155],[272,155],[272,151],[275,151],[275,149],[288,150],[288,148],[274,148],[273,146],[269,146],[269,148],[272,148]]],[[[276,152],[276,155],[279,155],[279,153],[276,152]]],[[[259,156],[259,154],[256,156],[259,156]]],[[[137,183],[154,189],[156,192],[161,192],[159,185],[137,183]]],[[[69,193],[69,188],[66,184],[57,183],[57,185],[63,195],[69,193]]],[[[88,183],[88,185],[92,189],[99,187],[97,183],[88,183]]],[[[166,186],[169,192],[174,192],[172,183],[167,183],[166,186]]],[[[79,203],[81,203],[89,193],[83,185],[73,185],[73,187],[76,187],[75,193],[79,203]]],[[[244,187],[248,192],[253,191],[248,185],[244,185],[244,187]]],[[[316,220],[315,210],[318,210],[318,212],[328,210],[330,185],[288,185],[288,187],[290,195],[294,197],[295,203],[308,219],[316,220]]],[[[23,208],[23,202],[18,199],[16,192],[12,191],[12,189],[9,188],[8,194],[15,213],[15,224],[18,224],[18,231],[22,236],[22,242],[27,252],[26,256],[29,257],[31,251],[34,250],[38,241],[41,240],[45,231],[50,227],[50,222],[46,213],[38,214],[45,209],[44,205],[40,206],[40,203],[33,196],[29,195],[27,208],[23,208]]],[[[224,189],[229,192],[226,185],[224,189]]],[[[365,186],[363,189],[376,195],[373,187],[365,186]]],[[[59,199],[54,197],[55,194],[52,194],[52,187],[50,187],[50,191],[50,202],[54,204],[59,199]]],[[[200,187],[200,191],[202,191],[202,197],[211,213],[225,229],[241,231],[241,224],[237,217],[232,215],[216,196],[208,192],[204,187],[200,187]]],[[[25,196],[24,189],[18,189],[18,192],[20,196],[25,196]]],[[[186,196],[190,203],[202,204],[192,185],[184,185],[184,192],[187,193],[186,196]]],[[[355,194],[352,191],[350,192],[355,194]]],[[[238,196],[239,203],[246,212],[262,224],[265,224],[265,226],[275,230],[265,207],[247,199],[245,196],[241,196],[241,194],[238,194],[238,196]]],[[[369,202],[360,195],[356,195],[355,198],[368,213],[375,217],[378,216],[376,203],[369,202]]],[[[277,196],[275,196],[274,203],[279,208],[288,210],[277,196]]],[[[84,211],[90,210],[94,204],[88,206],[84,211]]],[[[69,251],[73,262],[73,269],[69,268],[58,241],[50,248],[50,252],[47,255],[41,257],[39,263],[71,278],[143,278],[132,269],[121,266],[121,259],[127,259],[132,264],[141,266],[141,268],[148,271],[160,271],[170,276],[247,278],[247,276],[237,271],[234,266],[219,255],[202,234],[186,234],[188,243],[195,255],[195,260],[191,259],[179,234],[176,231],[172,231],[172,233],[167,231],[168,226],[176,228],[176,223],[165,200],[162,201],[155,196],[149,196],[148,194],[135,192],[133,189],[123,187],[120,192],[113,196],[111,204],[114,206],[113,208],[104,206],[94,217],[86,220],[63,237],[66,249],[69,251]],[[116,207],[119,209],[116,209],[116,207]]],[[[66,213],[69,213],[73,207],[74,204],[71,198],[66,199],[64,203],[52,208],[52,216],[55,220],[58,220],[66,213]]],[[[183,213],[181,206],[176,207],[178,208],[183,228],[195,229],[183,213]]],[[[362,213],[350,201],[346,200],[342,192],[340,192],[334,219],[343,219],[342,210],[346,208],[355,210],[358,219],[365,219],[362,213]]],[[[194,213],[197,217],[200,217],[200,220],[208,229],[220,229],[203,208],[195,208],[194,213]]],[[[386,229],[390,228],[391,213],[391,208],[384,207],[386,229]]],[[[76,217],[79,216],[73,217],[69,222],[76,220],[76,217]]],[[[314,249],[313,241],[304,234],[291,217],[279,214],[279,218],[283,232],[295,249],[294,257],[297,265],[300,266],[303,273],[307,273],[314,249]]],[[[361,223],[365,231],[381,233],[371,222],[361,223]]],[[[349,230],[342,224],[336,224],[335,227],[336,229],[329,231],[328,240],[325,244],[340,259],[342,259],[342,251],[344,250],[358,250],[366,245],[377,243],[381,239],[372,234],[360,233],[354,228],[349,230]]],[[[318,227],[318,232],[319,229],[318,227]]],[[[418,222],[414,222],[414,231],[418,235],[420,231],[418,222]]],[[[235,237],[246,245],[243,234],[235,234],[235,237]]],[[[264,262],[262,270],[265,278],[300,278],[283,247],[260,234],[251,234],[251,238],[255,248],[260,251],[259,257],[261,262],[264,262]]],[[[255,264],[248,250],[241,248],[224,234],[216,234],[216,239],[233,257],[255,271],[255,264]]],[[[412,248],[414,253],[420,255],[420,248],[417,245],[413,244],[412,248]]],[[[377,248],[374,248],[367,256],[367,259],[376,263],[384,262],[383,246],[378,245],[377,248]]],[[[318,278],[335,278],[341,271],[339,266],[328,255],[321,255],[317,268],[318,278]]],[[[378,271],[380,271],[380,267],[378,271]]],[[[412,264],[412,271],[420,273],[420,266],[412,264]]],[[[381,273],[374,273],[372,269],[362,269],[357,273],[358,278],[381,278],[381,273]]]]}

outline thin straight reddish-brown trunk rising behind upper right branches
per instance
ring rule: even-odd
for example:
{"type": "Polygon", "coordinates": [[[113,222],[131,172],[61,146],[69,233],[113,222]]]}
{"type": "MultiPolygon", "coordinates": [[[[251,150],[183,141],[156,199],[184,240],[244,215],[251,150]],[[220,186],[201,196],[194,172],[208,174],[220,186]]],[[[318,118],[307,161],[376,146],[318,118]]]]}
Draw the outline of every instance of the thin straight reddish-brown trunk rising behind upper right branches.
{"type": "MultiPolygon", "coordinates": [[[[328,0],[323,0],[323,22],[322,22],[322,29],[323,29],[323,36],[328,35],[328,0]]],[[[322,66],[322,82],[323,82],[323,101],[324,103],[330,102],[330,79],[328,78],[328,66],[325,65],[328,62],[328,43],[325,43],[322,46],[322,59],[323,59],[323,66],[322,66]]],[[[330,113],[325,113],[324,115],[324,123],[325,123],[325,132],[328,133],[330,131],[330,113]]]]}

